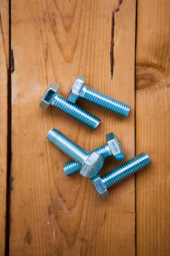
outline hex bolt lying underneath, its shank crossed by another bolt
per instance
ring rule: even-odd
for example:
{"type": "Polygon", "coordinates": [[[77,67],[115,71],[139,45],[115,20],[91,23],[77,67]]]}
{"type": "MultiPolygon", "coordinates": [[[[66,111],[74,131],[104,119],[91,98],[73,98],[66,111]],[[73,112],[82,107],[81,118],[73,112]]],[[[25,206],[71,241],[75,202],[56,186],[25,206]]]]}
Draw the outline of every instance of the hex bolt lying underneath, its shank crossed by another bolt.
{"type": "MultiPolygon", "coordinates": [[[[107,143],[90,151],[89,153],[96,152],[104,158],[111,157],[112,155],[116,158],[117,161],[121,161],[125,158],[125,151],[122,147],[121,142],[118,137],[113,134],[113,132],[106,134],[107,143]]],[[[81,165],[75,162],[74,160],[68,161],[63,165],[63,169],[66,176],[74,175],[79,172],[81,165]]]]}

